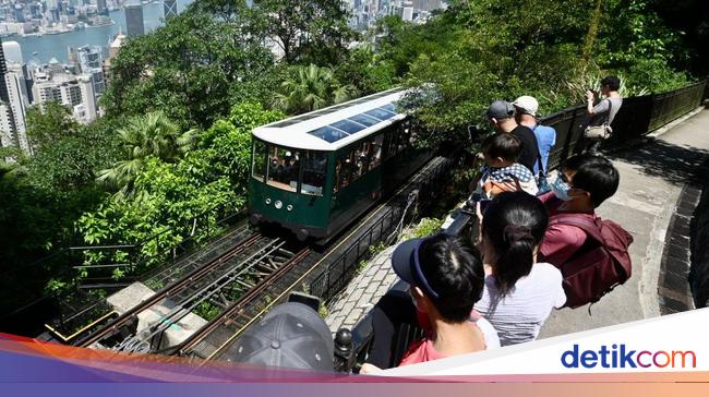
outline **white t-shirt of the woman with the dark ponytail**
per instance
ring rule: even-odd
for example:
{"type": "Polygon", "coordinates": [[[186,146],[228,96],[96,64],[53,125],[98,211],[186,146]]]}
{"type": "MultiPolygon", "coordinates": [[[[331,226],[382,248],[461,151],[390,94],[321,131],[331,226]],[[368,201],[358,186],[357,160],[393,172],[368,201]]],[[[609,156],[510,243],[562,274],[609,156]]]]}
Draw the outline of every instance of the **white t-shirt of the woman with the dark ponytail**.
{"type": "Polygon", "coordinates": [[[562,273],[549,263],[537,263],[528,276],[502,297],[495,277],[485,277],[485,288],[474,309],[497,330],[502,346],[534,340],[552,308],[566,302],[562,273]]]}

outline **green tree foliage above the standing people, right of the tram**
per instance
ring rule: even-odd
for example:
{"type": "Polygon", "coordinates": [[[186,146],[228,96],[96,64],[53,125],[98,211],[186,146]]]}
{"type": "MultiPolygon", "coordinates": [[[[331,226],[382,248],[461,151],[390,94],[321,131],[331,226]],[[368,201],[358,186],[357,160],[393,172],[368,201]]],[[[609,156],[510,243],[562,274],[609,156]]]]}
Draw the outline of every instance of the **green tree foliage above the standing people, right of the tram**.
{"type": "Polygon", "coordinates": [[[458,0],[424,25],[385,19],[377,34],[384,58],[418,87],[407,103],[422,105],[411,110],[437,145],[465,141],[495,99],[533,95],[546,113],[577,104],[588,88],[578,87],[601,74],[623,76],[629,94],[686,84],[668,56],[676,34],[650,2],[458,0]]]}

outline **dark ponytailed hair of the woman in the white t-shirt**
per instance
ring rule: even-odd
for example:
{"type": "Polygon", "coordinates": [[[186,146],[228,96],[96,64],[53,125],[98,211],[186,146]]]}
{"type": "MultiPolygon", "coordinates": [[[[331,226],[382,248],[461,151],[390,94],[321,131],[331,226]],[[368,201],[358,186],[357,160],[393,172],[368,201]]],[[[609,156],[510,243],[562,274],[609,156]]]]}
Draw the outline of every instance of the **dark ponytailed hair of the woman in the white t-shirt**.
{"type": "Polygon", "coordinates": [[[525,192],[498,194],[482,218],[482,234],[497,254],[495,285],[503,296],[531,272],[534,246],[546,231],[549,215],[539,198],[525,192]]]}

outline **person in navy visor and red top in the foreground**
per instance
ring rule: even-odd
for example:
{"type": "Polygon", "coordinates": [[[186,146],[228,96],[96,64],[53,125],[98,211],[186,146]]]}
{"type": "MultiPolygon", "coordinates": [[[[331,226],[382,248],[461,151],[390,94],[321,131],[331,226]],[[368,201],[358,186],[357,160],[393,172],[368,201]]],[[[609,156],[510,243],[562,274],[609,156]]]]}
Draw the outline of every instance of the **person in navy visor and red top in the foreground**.
{"type": "Polygon", "coordinates": [[[392,267],[409,285],[410,297],[387,293],[374,306],[373,346],[360,373],[389,364],[392,329],[402,314],[418,317],[407,322],[423,326],[426,334],[409,346],[398,365],[500,346],[492,325],[477,312],[471,315],[484,289],[484,270],[467,241],[445,234],[405,241],[394,250],[392,267]]]}

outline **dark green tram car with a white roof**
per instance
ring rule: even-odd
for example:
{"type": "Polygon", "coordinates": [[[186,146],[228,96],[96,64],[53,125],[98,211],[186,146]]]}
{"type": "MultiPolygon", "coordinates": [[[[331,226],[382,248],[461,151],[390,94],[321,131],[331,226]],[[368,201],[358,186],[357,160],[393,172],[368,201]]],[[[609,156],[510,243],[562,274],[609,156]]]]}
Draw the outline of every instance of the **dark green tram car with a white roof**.
{"type": "Polygon", "coordinates": [[[249,210],[324,243],[431,158],[392,89],[253,131],[249,210]]]}

